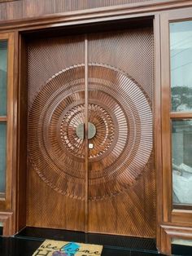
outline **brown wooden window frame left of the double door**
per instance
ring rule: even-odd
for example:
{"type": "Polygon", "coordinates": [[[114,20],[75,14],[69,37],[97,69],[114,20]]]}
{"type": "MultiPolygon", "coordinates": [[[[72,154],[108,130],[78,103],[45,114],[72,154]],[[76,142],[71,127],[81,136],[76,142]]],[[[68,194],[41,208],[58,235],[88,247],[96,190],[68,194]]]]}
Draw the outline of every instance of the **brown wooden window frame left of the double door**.
{"type": "Polygon", "coordinates": [[[12,195],[13,183],[13,168],[14,168],[14,151],[15,138],[14,138],[14,102],[15,96],[14,89],[14,33],[1,33],[1,40],[7,40],[7,114],[4,117],[0,117],[0,121],[7,123],[7,146],[6,146],[6,189],[3,197],[0,198],[0,222],[3,225],[3,232],[8,235],[13,232],[13,218],[12,201],[14,196],[12,195]]]}

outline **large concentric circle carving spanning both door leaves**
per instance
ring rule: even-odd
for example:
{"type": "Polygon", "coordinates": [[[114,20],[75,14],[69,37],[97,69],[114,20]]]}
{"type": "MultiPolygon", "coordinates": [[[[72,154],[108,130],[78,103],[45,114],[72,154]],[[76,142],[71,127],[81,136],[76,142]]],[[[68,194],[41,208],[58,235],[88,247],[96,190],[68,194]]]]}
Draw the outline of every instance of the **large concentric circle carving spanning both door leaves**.
{"type": "MultiPolygon", "coordinates": [[[[55,191],[85,198],[84,65],[55,74],[37,94],[28,116],[28,156],[37,174],[55,191]]],[[[129,188],[150,159],[151,102],[126,73],[89,64],[89,200],[129,188]]]]}

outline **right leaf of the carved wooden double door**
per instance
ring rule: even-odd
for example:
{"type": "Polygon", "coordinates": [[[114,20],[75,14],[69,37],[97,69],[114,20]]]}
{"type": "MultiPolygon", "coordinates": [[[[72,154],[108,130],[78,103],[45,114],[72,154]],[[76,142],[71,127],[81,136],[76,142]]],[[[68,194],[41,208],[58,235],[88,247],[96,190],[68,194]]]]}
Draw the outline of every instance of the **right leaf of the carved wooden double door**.
{"type": "Polygon", "coordinates": [[[152,29],[88,42],[89,232],[155,237],[152,29]]]}

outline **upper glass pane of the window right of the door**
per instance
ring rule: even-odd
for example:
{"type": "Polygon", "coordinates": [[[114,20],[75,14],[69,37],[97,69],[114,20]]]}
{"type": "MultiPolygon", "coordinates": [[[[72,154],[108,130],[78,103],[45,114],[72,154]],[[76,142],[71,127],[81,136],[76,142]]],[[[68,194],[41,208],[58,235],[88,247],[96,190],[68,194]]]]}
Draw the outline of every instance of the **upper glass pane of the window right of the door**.
{"type": "Polygon", "coordinates": [[[192,110],[192,21],[170,24],[172,111],[192,110]]]}

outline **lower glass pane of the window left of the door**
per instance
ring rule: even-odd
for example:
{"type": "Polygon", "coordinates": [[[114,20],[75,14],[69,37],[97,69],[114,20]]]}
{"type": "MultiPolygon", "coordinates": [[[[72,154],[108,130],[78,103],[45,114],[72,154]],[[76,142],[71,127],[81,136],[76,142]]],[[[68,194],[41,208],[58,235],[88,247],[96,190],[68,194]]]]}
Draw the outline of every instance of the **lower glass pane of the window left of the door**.
{"type": "Polygon", "coordinates": [[[5,193],[6,187],[6,140],[7,125],[5,122],[0,122],[0,194],[5,193]]]}

